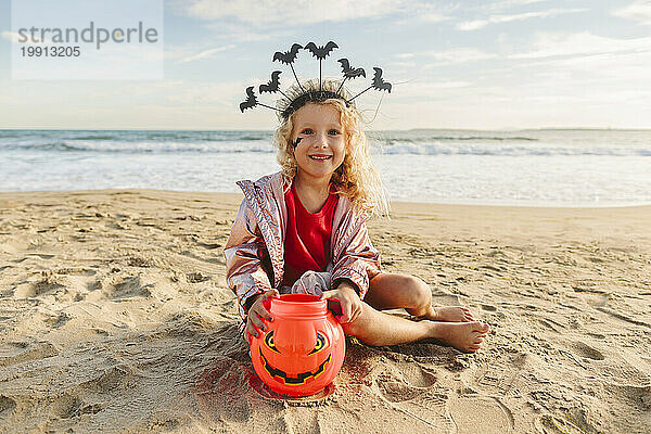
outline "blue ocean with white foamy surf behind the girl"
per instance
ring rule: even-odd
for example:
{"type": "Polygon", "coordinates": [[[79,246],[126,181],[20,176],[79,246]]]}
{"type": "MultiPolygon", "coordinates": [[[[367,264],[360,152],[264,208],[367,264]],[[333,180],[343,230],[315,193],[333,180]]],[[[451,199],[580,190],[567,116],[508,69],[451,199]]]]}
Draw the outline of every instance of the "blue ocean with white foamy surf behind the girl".
{"type": "MultiPolygon", "coordinates": [[[[651,204],[651,130],[370,131],[391,200],[651,204]]],[[[271,131],[0,130],[0,191],[239,192],[278,170],[271,131]]]]}

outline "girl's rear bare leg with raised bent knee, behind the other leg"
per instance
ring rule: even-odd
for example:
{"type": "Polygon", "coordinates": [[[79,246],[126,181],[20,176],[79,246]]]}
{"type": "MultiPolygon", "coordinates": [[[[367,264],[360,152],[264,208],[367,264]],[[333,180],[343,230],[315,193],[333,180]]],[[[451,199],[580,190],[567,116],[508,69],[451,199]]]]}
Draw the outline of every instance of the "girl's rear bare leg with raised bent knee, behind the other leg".
{"type": "Polygon", "coordinates": [[[410,275],[381,272],[369,282],[363,298],[378,310],[404,308],[408,314],[434,321],[474,321],[463,306],[432,306],[432,291],[421,279],[410,275]]]}

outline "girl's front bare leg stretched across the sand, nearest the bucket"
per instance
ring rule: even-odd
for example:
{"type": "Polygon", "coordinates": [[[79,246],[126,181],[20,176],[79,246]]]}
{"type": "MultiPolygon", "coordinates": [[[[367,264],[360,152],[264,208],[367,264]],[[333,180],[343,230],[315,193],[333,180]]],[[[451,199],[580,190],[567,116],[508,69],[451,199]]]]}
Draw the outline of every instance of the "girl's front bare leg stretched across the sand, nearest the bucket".
{"type": "Polygon", "coordinates": [[[488,333],[488,324],[472,322],[410,321],[373,309],[361,302],[362,310],[353,322],[342,323],[344,333],[368,345],[397,345],[435,339],[455,348],[476,352],[488,333]]]}

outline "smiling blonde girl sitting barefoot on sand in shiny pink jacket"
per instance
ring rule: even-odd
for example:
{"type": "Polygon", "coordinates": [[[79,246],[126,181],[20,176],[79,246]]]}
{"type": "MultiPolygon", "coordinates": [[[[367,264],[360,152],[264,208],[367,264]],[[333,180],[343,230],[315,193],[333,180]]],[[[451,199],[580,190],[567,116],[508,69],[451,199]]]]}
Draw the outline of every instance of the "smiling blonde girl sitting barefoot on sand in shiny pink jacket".
{"type": "Polygon", "coordinates": [[[361,115],[337,88],[335,81],[294,88],[275,137],[282,170],[238,182],[244,200],[225,255],[240,331],[247,341],[266,331],[273,318],[265,298],[311,293],[328,299],[344,332],[366,344],[436,339],[476,352],[487,324],[465,307],[434,308],[422,280],[381,270],[366,220],[387,214],[386,200],[370,164],[361,115]],[[416,321],[382,311],[395,308],[416,321]]]}

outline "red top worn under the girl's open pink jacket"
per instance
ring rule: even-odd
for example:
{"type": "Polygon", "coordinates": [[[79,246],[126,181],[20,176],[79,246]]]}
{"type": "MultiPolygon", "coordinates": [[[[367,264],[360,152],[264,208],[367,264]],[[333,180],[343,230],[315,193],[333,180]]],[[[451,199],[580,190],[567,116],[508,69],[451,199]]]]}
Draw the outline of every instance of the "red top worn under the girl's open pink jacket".
{"type": "Polygon", "coordinates": [[[288,227],[284,243],[284,277],[282,284],[292,286],[305,271],[326,271],[330,263],[330,234],[339,196],[334,186],[318,213],[309,213],[296,195],[294,183],[285,192],[288,227]]]}

